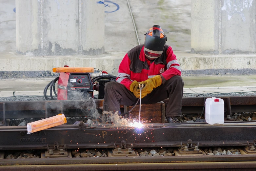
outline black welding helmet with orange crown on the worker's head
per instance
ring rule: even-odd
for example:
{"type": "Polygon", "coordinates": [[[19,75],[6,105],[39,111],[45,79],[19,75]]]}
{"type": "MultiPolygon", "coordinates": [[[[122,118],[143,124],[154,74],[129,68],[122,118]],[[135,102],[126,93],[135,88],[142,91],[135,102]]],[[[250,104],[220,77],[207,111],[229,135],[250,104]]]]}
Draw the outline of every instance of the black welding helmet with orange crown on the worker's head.
{"type": "Polygon", "coordinates": [[[148,58],[155,59],[162,55],[167,37],[160,26],[154,25],[145,34],[144,53],[148,58]]]}

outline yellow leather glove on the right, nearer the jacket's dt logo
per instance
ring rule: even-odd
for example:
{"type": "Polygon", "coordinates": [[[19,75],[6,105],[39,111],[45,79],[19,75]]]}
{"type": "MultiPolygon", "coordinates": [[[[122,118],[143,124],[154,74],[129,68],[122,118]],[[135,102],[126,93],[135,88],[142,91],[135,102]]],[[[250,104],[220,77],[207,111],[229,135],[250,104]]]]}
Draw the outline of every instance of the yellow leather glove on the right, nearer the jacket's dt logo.
{"type": "MultiPolygon", "coordinates": [[[[154,88],[157,88],[162,84],[162,78],[160,75],[148,78],[146,81],[142,81],[139,84],[145,85],[141,89],[141,98],[145,97],[147,94],[151,93],[154,88]]],[[[136,91],[136,94],[140,97],[140,89],[136,91]]]]}

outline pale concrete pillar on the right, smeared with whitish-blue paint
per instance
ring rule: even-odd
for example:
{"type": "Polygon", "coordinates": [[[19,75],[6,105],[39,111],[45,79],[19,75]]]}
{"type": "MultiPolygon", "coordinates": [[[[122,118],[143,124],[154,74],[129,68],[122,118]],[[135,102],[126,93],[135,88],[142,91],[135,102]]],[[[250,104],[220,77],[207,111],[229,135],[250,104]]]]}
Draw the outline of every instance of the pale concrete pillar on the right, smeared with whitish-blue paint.
{"type": "Polygon", "coordinates": [[[255,0],[191,0],[191,52],[255,53],[255,0]]]}

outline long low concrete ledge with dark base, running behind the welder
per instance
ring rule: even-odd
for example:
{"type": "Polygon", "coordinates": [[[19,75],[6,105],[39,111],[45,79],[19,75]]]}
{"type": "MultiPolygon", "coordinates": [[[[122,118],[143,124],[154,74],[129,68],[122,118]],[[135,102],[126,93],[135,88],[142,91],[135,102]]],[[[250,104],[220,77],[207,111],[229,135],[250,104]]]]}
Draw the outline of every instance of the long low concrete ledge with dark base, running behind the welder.
{"type": "MultiPolygon", "coordinates": [[[[126,52],[108,52],[95,56],[24,56],[0,53],[0,78],[55,77],[54,67],[94,67],[117,75],[126,52]],[[113,70],[113,68],[115,68],[113,70]]],[[[182,74],[186,75],[252,75],[256,74],[256,54],[203,55],[174,51],[182,74]]]]}

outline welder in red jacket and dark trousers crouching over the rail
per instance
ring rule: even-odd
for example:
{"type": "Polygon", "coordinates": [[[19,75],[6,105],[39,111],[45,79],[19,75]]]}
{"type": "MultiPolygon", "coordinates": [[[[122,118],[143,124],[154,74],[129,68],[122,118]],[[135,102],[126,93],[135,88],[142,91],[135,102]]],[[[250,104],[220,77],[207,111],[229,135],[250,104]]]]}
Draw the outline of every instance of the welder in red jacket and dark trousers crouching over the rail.
{"type": "Polygon", "coordinates": [[[132,48],[118,69],[117,82],[105,84],[104,111],[120,111],[120,104],[132,106],[157,103],[169,98],[166,108],[168,123],[179,123],[184,82],[181,67],[167,36],[160,26],[154,25],[145,34],[145,43],[132,48]]]}

